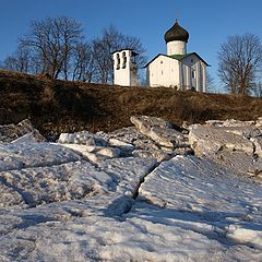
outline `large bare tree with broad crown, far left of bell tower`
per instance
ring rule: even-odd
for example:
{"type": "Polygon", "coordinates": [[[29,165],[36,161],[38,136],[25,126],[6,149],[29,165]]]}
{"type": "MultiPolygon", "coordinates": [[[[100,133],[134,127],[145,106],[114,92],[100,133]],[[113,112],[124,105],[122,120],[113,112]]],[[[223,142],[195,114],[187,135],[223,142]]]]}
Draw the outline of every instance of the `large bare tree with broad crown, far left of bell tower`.
{"type": "Polygon", "coordinates": [[[63,73],[67,80],[72,51],[81,39],[80,23],[61,16],[34,21],[29,34],[22,37],[20,43],[31,48],[34,57],[40,60],[41,73],[49,73],[55,79],[63,73]]]}

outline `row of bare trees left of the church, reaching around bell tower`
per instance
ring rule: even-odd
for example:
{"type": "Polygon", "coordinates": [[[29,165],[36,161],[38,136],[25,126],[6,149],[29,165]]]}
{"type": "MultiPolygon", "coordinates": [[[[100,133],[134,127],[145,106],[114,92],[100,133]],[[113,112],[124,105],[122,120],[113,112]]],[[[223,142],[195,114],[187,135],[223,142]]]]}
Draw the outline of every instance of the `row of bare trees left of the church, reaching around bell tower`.
{"type": "Polygon", "coordinates": [[[105,28],[102,36],[87,40],[81,23],[67,16],[33,21],[17,49],[1,62],[1,68],[53,79],[111,83],[111,52],[131,48],[140,53],[138,66],[145,63],[145,50],[139,38],[105,28]]]}

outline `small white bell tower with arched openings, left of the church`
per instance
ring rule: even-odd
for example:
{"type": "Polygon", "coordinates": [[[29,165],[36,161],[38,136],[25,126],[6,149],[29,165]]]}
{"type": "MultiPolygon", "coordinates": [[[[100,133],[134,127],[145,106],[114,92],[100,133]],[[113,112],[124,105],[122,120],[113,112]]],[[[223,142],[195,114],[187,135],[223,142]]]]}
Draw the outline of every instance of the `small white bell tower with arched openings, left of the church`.
{"type": "Polygon", "coordinates": [[[136,53],[124,49],[114,52],[114,83],[122,86],[138,86],[136,53]]]}

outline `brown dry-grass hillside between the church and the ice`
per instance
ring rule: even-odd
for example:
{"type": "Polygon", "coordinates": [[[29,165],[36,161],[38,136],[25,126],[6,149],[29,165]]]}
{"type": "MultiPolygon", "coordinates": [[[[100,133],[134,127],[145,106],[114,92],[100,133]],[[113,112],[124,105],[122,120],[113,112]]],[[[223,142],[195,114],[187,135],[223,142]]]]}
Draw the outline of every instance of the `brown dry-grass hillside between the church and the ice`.
{"type": "Polygon", "coordinates": [[[25,118],[44,134],[130,126],[130,116],[162,117],[181,124],[210,119],[257,119],[262,98],[66,82],[0,71],[0,124],[25,118]]]}

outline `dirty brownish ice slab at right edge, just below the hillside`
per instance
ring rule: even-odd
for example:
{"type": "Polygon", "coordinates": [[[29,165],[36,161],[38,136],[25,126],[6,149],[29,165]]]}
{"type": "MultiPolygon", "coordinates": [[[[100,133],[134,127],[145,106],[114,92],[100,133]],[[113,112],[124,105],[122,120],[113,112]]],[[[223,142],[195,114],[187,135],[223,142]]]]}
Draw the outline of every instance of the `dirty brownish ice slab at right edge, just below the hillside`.
{"type": "Polygon", "coordinates": [[[262,128],[258,121],[209,121],[190,127],[189,143],[195,155],[205,157],[229,172],[261,179],[262,128]]]}

